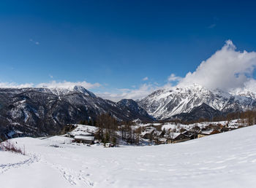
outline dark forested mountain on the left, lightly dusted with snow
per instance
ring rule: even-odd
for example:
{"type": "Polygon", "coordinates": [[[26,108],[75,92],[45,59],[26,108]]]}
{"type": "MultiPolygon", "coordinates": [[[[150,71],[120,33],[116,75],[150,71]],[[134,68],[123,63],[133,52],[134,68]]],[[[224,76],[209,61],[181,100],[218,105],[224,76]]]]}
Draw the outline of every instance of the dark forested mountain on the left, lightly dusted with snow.
{"type": "Polygon", "coordinates": [[[0,88],[0,138],[47,136],[59,133],[67,123],[110,113],[117,120],[151,121],[135,101],[114,103],[84,87],[0,88]]]}

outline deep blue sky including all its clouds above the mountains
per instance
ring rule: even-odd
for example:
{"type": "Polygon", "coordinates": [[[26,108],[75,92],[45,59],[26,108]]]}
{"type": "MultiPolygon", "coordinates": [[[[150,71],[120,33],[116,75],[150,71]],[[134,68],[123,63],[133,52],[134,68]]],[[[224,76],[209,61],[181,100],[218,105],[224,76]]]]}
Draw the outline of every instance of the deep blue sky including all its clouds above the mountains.
{"type": "Polygon", "coordinates": [[[0,87],[255,90],[253,1],[0,1],[0,87]]]}

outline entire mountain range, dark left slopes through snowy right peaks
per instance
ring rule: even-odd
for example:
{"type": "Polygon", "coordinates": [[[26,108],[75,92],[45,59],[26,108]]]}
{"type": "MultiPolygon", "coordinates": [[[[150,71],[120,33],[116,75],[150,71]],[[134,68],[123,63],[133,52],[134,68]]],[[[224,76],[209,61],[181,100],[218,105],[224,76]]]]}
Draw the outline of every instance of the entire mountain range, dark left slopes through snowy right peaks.
{"type": "Polygon", "coordinates": [[[195,84],[157,90],[138,101],[122,99],[117,103],[99,98],[81,86],[0,88],[0,139],[54,135],[68,123],[96,120],[102,113],[109,113],[118,121],[190,121],[211,120],[255,106],[254,93],[232,94],[195,84]]]}

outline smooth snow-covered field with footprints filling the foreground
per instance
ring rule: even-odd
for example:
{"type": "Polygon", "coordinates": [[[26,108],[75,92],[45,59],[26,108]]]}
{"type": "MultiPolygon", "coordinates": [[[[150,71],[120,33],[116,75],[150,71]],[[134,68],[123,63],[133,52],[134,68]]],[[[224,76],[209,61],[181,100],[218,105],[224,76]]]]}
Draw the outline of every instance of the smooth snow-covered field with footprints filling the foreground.
{"type": "Polygon", "coordinates": [[[255,133],[256,125],[180,144],[119,148],[15,138],[27,155],[0,151],[0,187],[255,187],[255,133]]]}

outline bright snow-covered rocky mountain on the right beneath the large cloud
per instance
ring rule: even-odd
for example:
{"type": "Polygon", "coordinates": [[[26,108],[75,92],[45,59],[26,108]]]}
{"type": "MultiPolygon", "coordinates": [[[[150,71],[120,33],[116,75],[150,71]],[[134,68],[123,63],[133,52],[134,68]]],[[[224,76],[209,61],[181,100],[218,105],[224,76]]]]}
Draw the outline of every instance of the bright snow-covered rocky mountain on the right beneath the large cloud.
{"type": "Polygon", "coordinates": [[[189,113],[202,104],[222,113],[253,109],[256,106],[256,99],[253,93],[234,95],[218,89],[208,90],[194,84],[157,90],[138,101],[138,104],[156,119],[165,120],[177,114],[189,113]]]}

